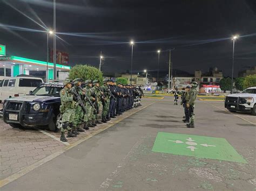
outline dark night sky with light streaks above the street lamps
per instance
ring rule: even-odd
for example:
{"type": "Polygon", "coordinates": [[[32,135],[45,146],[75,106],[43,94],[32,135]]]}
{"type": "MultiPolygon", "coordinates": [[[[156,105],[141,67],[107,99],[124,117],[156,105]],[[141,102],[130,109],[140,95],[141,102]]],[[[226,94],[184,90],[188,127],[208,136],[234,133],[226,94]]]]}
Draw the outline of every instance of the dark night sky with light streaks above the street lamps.
{"type": "MultiPolygon", "coordinates": [[[[0,1],[0,44],[7,54],[46,60],[46,31],[53,27],[53,1],[0,1]],[[25,15],[24,15],[25,14],[25,15]],[[36,24],[37,22],[38,24],[36,24]],[[39,26],[42,25],[42,26],[39,26]]],[[[256,65],[256,1],[202,0],[56,0],[57,49],[70,54],[70,64],[97,66],[103,52],[106,72],[130,70],[131,39],[134,72],[168,73],[169,48],[173,68],[191,74],[217,66],[231,75],[231,37],[235,69],[256,65]]],[[[50,39],[52,46],[52,38],[50,39]]]]}

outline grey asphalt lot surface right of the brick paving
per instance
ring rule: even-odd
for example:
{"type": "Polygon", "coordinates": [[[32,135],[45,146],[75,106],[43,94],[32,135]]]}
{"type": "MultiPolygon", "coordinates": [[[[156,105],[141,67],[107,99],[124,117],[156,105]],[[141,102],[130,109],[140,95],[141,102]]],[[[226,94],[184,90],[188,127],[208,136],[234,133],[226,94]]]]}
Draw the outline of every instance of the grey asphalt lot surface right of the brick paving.
{"type": "MultiPolygon", "coordinates": [[[[243,114],[226,112],[219,102],[198,101],[195,112],[196,128],[187,129],[181,122],[183,108],[173,105],[172,97],[166,97],[1,190],[255,189],[255,116],[246,115],[243,119],[243,114]],[[156,145],[159,132],[172,133],[164,135],[173,139],[156,145]],[[187,142],[181,139],[183,135],[173,133],[185,134],[187,142]],[[224,139],[205,147],[194,142],[211,138],[197,136],[224,139]],[[184,142],[197,148],[192,151],[192,147],[185,146],[177,150],[176,144],[185,145],[184,142]],[[154,152],[153,146],[179,154],[154,152]],[[225,149],[227,153],[234,150],[237,155],[227,155],[225,149]],[[199,152],[205,157],[189,156],[199,152]],[[210,157],[214,152],[218,154],[213,157],[220,159],[210,157]],[[240,159],[228,161],[225,157],[240,159]]],[[[159,143],[162,140],[160,137],[159,143]]]]}

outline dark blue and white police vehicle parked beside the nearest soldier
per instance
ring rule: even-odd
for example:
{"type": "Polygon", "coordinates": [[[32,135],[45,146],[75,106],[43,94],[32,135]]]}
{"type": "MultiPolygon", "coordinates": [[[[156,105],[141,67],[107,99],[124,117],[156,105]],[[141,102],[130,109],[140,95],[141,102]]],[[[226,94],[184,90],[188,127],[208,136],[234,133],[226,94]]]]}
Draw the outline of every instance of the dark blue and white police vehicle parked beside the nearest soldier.
{"type": "Polygon", "coordinates": [[[59,115],[59,92],[63,83],[44,83],[23,97],[12,97],[4,101],[3,120],[14,128],[27,126],[46,127],[56,131],[59,115]]]}

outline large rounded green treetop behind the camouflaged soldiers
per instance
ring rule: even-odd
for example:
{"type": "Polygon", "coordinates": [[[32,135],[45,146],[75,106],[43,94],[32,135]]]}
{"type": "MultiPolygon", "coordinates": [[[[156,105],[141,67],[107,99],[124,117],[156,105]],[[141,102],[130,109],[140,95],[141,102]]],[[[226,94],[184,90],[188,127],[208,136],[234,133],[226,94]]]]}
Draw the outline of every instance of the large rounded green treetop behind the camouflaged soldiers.
{"type": "Polygon", "coordinates": [[[98,68],[88,65],[76,65],[69,71],[69,79],[71,80],[79,77],[84,80],[99,80],[100,84],[103,82],[102,75],[98,68]]]}

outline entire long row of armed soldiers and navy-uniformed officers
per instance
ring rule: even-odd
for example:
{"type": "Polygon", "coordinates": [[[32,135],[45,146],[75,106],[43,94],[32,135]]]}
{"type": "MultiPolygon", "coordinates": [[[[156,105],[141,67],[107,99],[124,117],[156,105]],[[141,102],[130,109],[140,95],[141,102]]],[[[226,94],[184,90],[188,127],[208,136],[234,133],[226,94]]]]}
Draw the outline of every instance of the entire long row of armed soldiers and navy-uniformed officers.
{"type": "Polygon", "coordinates": [[[98,80],[64,80],[64,88],[60,91],[60,140],[67,142],[67,137],[76,137],[79,132],[85,132],[97,124],[106,123],[111,118],[122,115],[132,108],[140,107],[143,90],[140,87],[122,84],[114,80],[103,80],[99,86],[98,80]],[[73,87],[72,87],[73,85],[73,87]],[[82,85],[85,85],[82,88],[82,85]],[[102,120],[99,111],[102,110],[102,120]]]}

